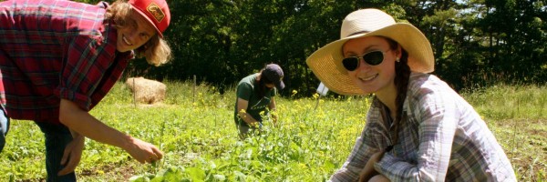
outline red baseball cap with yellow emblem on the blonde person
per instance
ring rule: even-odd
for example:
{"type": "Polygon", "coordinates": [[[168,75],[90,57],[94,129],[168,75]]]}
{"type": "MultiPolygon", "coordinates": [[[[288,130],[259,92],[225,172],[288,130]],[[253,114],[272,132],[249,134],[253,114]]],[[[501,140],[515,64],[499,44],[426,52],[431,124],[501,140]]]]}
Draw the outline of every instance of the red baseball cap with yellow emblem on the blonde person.
{"type": "Polygon", "coordinates": [[[158,35],[163,38],[162,33],[170,23],[170,11],[167,2],[165,0],[129,0],[128,3],[140,15],[144,16],[150,24],[154,25],[158,35]]]}

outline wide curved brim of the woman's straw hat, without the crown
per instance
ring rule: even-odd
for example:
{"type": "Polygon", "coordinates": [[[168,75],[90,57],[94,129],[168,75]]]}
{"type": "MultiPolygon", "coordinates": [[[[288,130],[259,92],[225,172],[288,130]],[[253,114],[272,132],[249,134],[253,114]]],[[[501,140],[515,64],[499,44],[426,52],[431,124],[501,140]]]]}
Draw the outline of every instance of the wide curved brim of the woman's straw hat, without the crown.
{"type": "Polygon", "coordinates": [[[388,25],[373,32],[351,35],[331,42],[309,56],[306,64],[333,92],[348,96],[364,95],[365,92],[349,78],[346,68],[342,65],[342,46],[348,40],[373,35],[391,38],[407,50],[410,70],[420,73],[430,73],[434,70],[435,59],[428,38],[414,25],[407,23],[388,25]]]}

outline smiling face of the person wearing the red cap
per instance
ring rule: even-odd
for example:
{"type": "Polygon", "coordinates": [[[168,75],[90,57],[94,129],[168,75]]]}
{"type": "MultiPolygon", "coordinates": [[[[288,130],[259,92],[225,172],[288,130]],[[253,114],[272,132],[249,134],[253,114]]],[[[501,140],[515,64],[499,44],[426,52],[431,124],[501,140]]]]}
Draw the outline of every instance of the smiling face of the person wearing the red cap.
{"type": "Polygon", "coordinates": [[[139,13],[131,12],[127,21],[118,29],[116,49],[122,53],[139,48],[156,35],[156,29],[139,13]]]}

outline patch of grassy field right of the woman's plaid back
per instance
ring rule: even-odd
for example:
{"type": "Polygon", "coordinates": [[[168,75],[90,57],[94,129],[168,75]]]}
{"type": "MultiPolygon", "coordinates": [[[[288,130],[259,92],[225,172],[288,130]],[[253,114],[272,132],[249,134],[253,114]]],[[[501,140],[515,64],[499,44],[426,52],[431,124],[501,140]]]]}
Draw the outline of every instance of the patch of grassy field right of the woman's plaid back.
{"type": "Polygon", "coordinates": [[[547,87],[498,84],[462,94],[484,117],[517,177],[547,179],[547,87]]]}

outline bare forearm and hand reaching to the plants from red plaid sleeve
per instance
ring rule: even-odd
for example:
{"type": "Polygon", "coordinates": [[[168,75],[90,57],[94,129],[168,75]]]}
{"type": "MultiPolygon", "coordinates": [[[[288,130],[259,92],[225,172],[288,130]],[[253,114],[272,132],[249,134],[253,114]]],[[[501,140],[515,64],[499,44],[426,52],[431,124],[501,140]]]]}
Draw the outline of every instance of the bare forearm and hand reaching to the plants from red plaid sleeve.
{"type": "Polygon", "coordinates": [[[152,162],[163,157],[163,153],[154,145],[105,125],[70,100],[61,99],[59,120],[71,131],[82,136],[121,147],[140,163],[152,162]]]}

